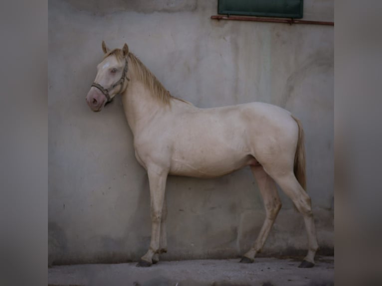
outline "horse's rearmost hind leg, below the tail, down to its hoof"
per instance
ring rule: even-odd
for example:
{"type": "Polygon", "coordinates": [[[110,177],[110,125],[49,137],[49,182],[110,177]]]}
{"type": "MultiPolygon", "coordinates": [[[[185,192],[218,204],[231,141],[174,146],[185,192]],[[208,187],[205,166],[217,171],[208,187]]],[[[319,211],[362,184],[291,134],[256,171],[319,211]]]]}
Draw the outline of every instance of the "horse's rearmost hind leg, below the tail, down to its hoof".
{"type": "Polygon", "coordinates": [[[305,227],[308,232],[309,250],[299,267],[313,267],[314,256],[318,250],[318,243],[310,197],[301,187],[293,172],[276,176],[272,175],[272,177],[279,184],[281,189],[292,199],[298,211],[304,216],[305,227]]]}

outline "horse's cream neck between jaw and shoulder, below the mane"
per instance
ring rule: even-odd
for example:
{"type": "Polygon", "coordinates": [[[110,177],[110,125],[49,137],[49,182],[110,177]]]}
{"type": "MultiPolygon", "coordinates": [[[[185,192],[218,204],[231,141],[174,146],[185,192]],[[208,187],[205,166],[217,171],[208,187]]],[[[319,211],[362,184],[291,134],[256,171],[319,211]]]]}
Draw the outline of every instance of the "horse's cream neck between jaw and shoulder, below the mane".
{"type": "Polygon", "coordinates": [[[168,108],[158,102],[142,82],[133,78],[122,95],[122,102],[126,119],[134,135],[148,126],[158,113],[168,108]]]}

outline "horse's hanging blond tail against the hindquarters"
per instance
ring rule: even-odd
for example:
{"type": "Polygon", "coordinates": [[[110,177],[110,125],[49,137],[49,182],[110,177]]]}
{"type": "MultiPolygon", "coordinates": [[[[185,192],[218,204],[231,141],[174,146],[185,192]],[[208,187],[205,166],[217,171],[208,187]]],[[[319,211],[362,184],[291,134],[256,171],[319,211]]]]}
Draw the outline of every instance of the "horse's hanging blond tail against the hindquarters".
{"type": "Polygon", "coordinates": [[[301,122],[293,115],[292,118],[296,121],[298,125],[298,141],[296,153],[294,155],[293,171],[298,182],[306,191],[304,130],[302,129],[301,122]]]}

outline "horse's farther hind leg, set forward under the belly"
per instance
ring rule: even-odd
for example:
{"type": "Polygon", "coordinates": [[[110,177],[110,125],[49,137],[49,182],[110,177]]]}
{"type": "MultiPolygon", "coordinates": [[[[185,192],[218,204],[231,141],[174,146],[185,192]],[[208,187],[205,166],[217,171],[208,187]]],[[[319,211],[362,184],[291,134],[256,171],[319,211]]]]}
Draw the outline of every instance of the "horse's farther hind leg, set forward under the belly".
{"type": "Polygon", "coordinates": [[[252,173],[259,185],[265,207],[265,221],[252,248],[244,254],[241,263],[252,263],[256,253],[263,247],[277,214],[281,208],[281,201],[277,193],[275,181],[264,171],[262,166],[251,166],[252,173]]]}

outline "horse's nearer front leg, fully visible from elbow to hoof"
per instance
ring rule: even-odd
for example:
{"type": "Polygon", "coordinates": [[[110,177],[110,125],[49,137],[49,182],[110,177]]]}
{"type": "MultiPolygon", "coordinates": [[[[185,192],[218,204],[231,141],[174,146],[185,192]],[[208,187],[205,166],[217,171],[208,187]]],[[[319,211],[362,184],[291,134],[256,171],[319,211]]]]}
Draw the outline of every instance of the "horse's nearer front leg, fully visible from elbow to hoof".
{"type": "Polygon", "coordinates": [[[153,264],[153,256],[160,251],[161,221],[168,175],[168,171],[159,166],[148,167],[147,173],[149,175],[151,198],[151,243],[149,250],[137,264],[138,267],[151,266],[153,264]]]}

